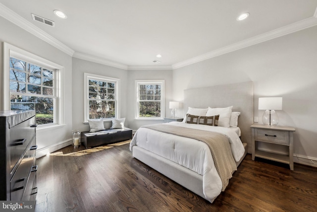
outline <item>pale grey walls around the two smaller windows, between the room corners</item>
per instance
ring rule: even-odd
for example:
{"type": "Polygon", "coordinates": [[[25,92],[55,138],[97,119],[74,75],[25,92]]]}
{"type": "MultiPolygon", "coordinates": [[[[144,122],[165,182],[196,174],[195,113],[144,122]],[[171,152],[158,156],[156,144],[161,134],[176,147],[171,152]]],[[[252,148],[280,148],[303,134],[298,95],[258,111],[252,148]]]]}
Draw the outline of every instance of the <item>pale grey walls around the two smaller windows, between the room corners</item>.
{"type": "MultiPolygon", "coordinates": [[[[125,126],[133,130],[139,129],[146,124],[162,123],[162,120],[135,120],[135,100],[134,86],[135,80],[164,79],[165,80],[165,114],[170,116],[169,101],[172,100],[172,71],[135,71],[121,70],[106,65],[89,62],[77,58],[72,59],[73,77],[72,77],[72,121],[73,129],[89,131],[89,125],[84,122],[84,73],[93,73],[108,77],[120,79],[120,118],[126,118],[125,126]]],[[[105,128],[110,128],[111,122],[105,122],[105,128]]]]}

